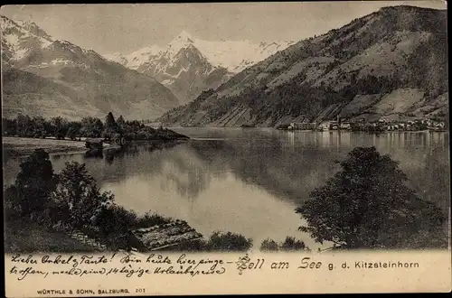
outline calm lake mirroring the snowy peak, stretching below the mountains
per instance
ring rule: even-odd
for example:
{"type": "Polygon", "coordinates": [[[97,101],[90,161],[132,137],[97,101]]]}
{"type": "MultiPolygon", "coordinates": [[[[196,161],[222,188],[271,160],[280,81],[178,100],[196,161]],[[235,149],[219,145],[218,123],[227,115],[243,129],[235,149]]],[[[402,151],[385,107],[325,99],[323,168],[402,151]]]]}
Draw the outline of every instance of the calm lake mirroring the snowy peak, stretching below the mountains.
{"type": "MultiPolygon", "coordinates": [[[[52,154],[55,172],[65,162],[86,163],[118,204],[144,213],[186,220],[205,236],[215,230],[252,237],[254,247],[270,237],[304,240],[295,209],[315,187],[338,171],[355,146],[374,145],[400,162],[419,196],[449,207],[448,133],[287,132],[265,128],[174,128],[193,139],[150,150],[139,144],[113,158],[52,154]]],[[[4,163],[4,182],[14,182],[20,160],[4,163]]]]}

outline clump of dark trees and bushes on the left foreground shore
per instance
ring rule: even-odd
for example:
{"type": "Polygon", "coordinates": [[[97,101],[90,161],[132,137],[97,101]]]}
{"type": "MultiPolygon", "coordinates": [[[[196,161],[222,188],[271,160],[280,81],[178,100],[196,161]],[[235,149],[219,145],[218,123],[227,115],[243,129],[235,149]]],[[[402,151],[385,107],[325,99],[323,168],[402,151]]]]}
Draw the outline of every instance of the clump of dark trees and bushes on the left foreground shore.
{"type": "MultiPolygon", "coordinates": [[[[20,166],[14,185],[5,189],[7,220],[28,218],[65,233],[79,230],[109,249],[130,248],[131,229],[171,221],[151,212],[138,217],[115,204],[113,194],[99,190],[84,163],[66,163],[66,168],[54,175],[49,154],[36,150],[20,166]]],[[[182,246],[204,249],[205,242],[182,246]]]]}

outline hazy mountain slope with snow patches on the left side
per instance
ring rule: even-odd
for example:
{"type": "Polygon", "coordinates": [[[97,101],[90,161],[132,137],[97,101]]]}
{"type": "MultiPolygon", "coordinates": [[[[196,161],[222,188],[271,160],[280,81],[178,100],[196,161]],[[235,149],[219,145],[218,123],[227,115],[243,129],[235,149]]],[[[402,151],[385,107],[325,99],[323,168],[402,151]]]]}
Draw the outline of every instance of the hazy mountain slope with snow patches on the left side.
{"type": "Polygon", "coordinates": [[[162,115],[179,101],[155,79],[2,16],[4,116],[162,115]],[[37,108],[34,108],[37,107],[37,108]]]}

